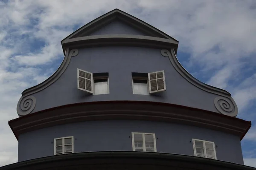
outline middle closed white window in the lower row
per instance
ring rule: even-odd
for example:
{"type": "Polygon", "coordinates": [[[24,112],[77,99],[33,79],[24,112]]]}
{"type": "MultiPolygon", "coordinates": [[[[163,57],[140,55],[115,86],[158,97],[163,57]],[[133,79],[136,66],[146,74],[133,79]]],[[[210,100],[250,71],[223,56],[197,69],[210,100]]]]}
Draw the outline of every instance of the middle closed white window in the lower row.
{"type": "Polygon", "coordinates": [[[144,152],[157,152],[156,138],[154,133],[131,133],[132,150],[144,152]]]}

